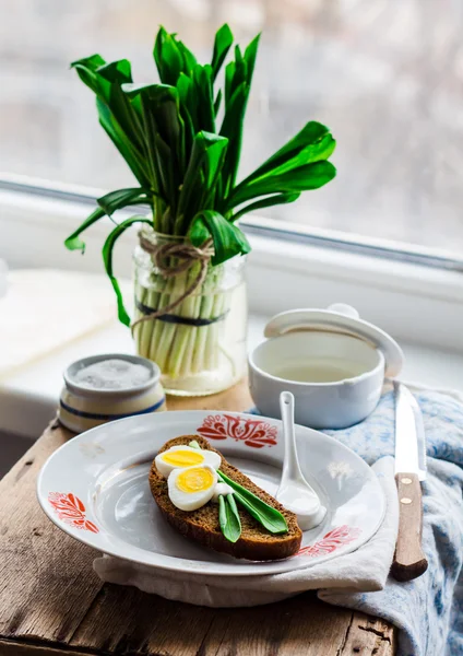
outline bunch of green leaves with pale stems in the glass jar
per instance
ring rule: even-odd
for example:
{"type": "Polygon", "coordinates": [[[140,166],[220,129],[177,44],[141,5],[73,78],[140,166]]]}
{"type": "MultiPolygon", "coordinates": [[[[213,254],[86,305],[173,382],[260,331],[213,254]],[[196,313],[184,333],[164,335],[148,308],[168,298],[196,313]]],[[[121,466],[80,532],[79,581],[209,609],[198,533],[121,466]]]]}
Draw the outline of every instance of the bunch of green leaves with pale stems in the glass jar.
{"type": "Polygon", "coordinates": [[[174,272],[166,274],[162,285],[135,289],[134,330],[139,352],[173,378],[214,364],[218,348],[214,320],[228,311],[226,294],[214,293],[221,266],[250,250],[238,219],[253,210],[293,202],[301,191],[317,189],[335,175],[328,162],[335,141],[327,127],[310,121],[237,183],[259,36],[244,52],[235,46],[222,89],[217,89],[233,40],[228,25],[221,27],[211,63],[201,65],[175,34],[161,27],[153,52],[161,83],[133,84],[127,59],[107,63],[93,55],[72,63],[94,92],[99,122],[138,185],[99,198],[95,211],[66,246],[84,250],[81,233],[103,216],[130,206],[150,208],[146,215],[116,224],[104,245],[103,259],[116,292],[119,319],[128,326],[130,318],[112,268],[112,249],[123,232],[141,224],[142,246],[158,270],[174,272]],[[153,231],[177,237],[178,243],[163,249],[154,243],[150,247],[153,231]],[[171,314],[169,321],[163,321],[163,316],[173,312],[183,319],[200,318],[202,327],[188,326],[185,320],[176,325],[171,314]]]}

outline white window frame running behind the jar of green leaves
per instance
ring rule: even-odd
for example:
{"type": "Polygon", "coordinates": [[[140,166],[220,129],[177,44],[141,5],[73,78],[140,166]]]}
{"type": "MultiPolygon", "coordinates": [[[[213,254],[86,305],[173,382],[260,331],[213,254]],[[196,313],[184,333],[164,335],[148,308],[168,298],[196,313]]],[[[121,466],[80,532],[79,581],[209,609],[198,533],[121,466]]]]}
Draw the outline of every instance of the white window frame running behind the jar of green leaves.
{"type": "MultiPolygon", "coordinates": [[[[0,257],[12,268],[104,273],[100,248],[109,219],[86,233],[85,257],[62,246],[102,194],[98,189],[2,176],[0,257]]],[[[284,222],[264,216],[252,215],[241,226],[252,246],[248,261],[251,312],[271,316],[295,307],[344,302],[397,339],[463,351],[463,260],[306,226],[290,224],[288,230],[284,222]]],[[[121,278],[131,276],[134,232],[124,243],[126,248],[119,245],[116,254],[116,271],[121,278]]]]}

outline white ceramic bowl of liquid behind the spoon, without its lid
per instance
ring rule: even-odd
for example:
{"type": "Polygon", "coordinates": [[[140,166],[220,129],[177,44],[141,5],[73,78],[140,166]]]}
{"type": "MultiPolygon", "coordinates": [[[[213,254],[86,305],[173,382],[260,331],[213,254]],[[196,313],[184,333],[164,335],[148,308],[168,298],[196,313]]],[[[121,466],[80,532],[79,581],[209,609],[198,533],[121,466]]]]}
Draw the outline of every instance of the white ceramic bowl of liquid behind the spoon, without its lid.
{"type": "MultiPolygon", "coordinates": [[[[323,376],[319,376],[323,377],[323,376]]],[[[384,355],[372,344],[349,335],[295,331],[261,343],[249,356],[249,382],[258,410],[280,418],[280,394],[295,396],[296,422],[313,429],[345,429],[376,408],[384,380],[384,355]],[[349,376],[334,382],[298,382],[285,377],[301,363],[330,367],[341,363],[349,376]],[[348,365],[348,366],[347,366],[348,365]],[[282,373],[283,372],[283,373],[282,373]]]]}

